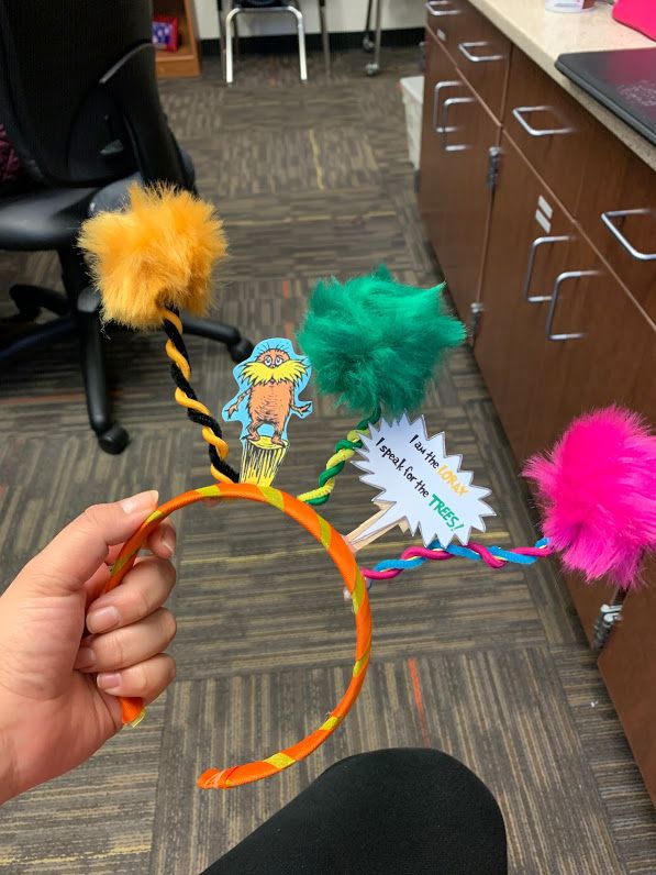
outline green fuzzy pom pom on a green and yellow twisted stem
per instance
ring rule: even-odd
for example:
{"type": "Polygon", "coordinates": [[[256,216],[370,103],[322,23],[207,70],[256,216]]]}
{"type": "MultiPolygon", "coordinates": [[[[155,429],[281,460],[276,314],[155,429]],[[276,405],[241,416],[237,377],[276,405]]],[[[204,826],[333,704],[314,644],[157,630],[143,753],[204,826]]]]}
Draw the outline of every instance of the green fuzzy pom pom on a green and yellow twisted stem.
{"type": "Polygon", "coordinates": [[[319,390],[357,413],[416,409],[445,352],[466,336],[442,288],[402,286],[385,267],[320,281],[298,334],[319,390]]]}

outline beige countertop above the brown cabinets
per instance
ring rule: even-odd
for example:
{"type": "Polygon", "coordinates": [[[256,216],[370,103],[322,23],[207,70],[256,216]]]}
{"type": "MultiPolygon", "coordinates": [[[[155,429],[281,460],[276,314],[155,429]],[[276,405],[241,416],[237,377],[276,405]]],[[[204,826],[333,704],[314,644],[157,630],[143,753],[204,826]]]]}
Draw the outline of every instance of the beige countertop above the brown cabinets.
{"type": "Polygon", "coordinates": [[[598,2],[589,12],[549,12],[544,0],[469,0],[492,24],[525,52],[629,148],[656,170],[656,146],[598,103],[554,66],[566,52],[648,48],[656,43],[611,18],[611,7],[598,2]]]}

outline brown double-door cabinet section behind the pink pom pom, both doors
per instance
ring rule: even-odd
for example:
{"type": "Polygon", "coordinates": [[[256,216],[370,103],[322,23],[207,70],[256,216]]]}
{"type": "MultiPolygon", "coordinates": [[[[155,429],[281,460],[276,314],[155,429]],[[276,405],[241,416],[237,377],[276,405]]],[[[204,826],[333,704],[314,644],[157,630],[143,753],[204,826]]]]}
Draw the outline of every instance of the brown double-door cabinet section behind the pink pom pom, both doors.
{"type": "MultiPolygon", "coordinates": [[[[629,396],[656,421],[656,394],[637,390],[643,367],[656,373],[653,326],[505,134],[481,300],[475,354],[520,463],[552,445],[574,417],[629,396]],[[619,342],[618,325],[634,345],[619,342]]],[[[591,638],[613,587],[575,575],[567,584],[591,638]]]]}

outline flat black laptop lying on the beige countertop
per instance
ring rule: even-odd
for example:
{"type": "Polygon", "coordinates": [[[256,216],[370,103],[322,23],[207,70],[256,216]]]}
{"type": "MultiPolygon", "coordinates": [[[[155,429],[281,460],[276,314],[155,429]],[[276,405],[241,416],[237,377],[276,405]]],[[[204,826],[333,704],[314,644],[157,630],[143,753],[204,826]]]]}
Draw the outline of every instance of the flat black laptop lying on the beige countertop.
{"type": "Polygon", "coordinates": [[[556,68],[656,145],[656,47],[575,52],[556,68]]]}

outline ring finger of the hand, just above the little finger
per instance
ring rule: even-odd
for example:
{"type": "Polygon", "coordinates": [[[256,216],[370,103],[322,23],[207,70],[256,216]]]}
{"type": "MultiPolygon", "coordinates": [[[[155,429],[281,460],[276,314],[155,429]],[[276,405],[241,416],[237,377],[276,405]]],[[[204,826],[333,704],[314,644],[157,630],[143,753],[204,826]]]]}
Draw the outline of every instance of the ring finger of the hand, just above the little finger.
{"type": "Polygon", "coordinates": [[[136,623],[86,639],[74,667],[80,672],[129,668],[162,653],[175,634],[175,617],[166,608],[158,608],[136,623]]]}

